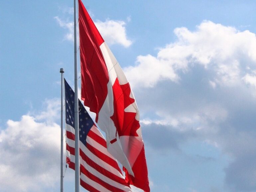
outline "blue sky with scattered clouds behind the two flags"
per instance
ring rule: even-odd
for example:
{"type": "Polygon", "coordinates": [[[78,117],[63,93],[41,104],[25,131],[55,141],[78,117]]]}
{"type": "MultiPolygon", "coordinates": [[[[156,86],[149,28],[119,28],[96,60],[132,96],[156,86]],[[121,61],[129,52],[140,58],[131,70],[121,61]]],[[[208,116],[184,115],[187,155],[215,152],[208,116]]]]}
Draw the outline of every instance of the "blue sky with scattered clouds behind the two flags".
{"type": "MultiPolygon", "coordinates": [[[[255,192],[256,2],[83,3],[132,85],[151,191],[255,192]]],[[[60,188],[72,7],[0,2],[0,192],[60,188]]]]}

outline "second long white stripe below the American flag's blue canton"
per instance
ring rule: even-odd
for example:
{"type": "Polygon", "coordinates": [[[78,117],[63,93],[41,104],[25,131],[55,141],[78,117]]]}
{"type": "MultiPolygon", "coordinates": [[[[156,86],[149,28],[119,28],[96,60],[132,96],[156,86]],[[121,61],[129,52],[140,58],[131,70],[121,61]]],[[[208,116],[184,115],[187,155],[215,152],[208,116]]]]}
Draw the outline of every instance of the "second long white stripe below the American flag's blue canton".
{"type": "MultiPolygon", "coordinates": [[[[74,162],[75,161],[75,156],[70,154],[70,161],[74,162]]],[[[109,185],[112,185],[116,188],[122,189],[124,191],[130,192],[131,189],[125,185],[122,185],[116,181],[113,181],[112,179],[110,179],[109,177],[101,174],[100,172],[98,172],[96,169],[94,169],[93,167],[89,166],[81,157],[80,157],[80,164],[83,165],[91,174],[95,175],[96,177],[98,177],[99,179],[101,179],[102,181],[105,181],[106,183],[108,183],[109,185]]],[[[102,191],[102,190],[99,190],[102,191]]],[[[104,190],[103,190],[104,191],[104,190]]]]}

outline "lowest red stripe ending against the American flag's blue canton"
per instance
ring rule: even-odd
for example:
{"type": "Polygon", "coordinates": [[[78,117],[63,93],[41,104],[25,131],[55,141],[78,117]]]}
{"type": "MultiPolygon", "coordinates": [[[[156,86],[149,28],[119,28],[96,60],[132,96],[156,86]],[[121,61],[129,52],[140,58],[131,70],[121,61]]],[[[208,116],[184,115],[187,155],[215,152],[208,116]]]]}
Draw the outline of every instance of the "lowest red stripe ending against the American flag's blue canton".
{"type": "MultiPolygon", "coordinates": [[[[108,163],[110,166],[114,167],[115,169],[117,169],[121,174],[121,169],[118,166],[117,162],[110,158],[109,156],[105,155],[104,153],[102,153],[101,151],[99,151],[98,149],[96,149],[95,147],[93,147],[92,145],[86,143],[86,147],[88,148],[89,151],[91,151],[95,156],[99,157],[100,159],[102,159],[103,161],[105,161],[106,163],[108,163]]],[[[106,149],[107,150],[107,149],[106,149]]]]}

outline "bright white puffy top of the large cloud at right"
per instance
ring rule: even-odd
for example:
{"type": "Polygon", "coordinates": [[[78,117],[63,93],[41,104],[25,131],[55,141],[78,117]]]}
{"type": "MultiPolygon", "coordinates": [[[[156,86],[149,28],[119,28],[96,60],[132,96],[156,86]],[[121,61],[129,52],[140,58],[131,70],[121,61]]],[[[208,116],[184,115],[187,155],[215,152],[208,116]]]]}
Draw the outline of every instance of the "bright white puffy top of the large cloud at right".
{"type": "Polygon", "coordinates": [[[134,86],[153,87],[166,79],[178,82],[181,73],[195,65],[214,72],[209,77],[212,86],[234,85],[245,65],[256,61],[256,37],[249,31],[204,21],[195,31],[181,27],[174,34],[177,41],[160,48],[157,56],[139,55],[135,66],[124,69],[134,86]]]}

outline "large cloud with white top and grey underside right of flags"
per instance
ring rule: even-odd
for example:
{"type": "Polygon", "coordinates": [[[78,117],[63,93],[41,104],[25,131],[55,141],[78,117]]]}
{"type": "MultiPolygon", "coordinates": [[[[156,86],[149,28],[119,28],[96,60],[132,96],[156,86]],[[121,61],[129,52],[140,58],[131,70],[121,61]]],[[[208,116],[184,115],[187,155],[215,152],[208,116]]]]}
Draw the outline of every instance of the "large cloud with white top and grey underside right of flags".
{"type": "Polygon", "coordinates": [[[139,55],[124,69],[139,88],[145,145],[164,153],[210,144],[228,157],[223,191],[256,191],[255,34],[210,21],[174,33],[156,56],[139,55]]]}

